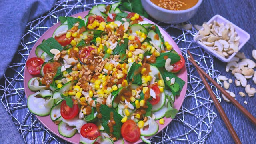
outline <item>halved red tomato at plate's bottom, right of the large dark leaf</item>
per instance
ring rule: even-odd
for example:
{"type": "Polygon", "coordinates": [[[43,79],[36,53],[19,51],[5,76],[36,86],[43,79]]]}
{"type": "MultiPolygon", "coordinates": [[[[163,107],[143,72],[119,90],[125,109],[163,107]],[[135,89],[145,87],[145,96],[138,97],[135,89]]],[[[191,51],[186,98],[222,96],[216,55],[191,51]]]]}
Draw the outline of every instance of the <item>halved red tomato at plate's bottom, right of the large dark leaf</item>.
{"type": "Polygon", "coordinates": [[[133,120],[127,120],[121,127],[121,135],[129,142],[136,142],[140,138],[140,128],[133,120]]]}

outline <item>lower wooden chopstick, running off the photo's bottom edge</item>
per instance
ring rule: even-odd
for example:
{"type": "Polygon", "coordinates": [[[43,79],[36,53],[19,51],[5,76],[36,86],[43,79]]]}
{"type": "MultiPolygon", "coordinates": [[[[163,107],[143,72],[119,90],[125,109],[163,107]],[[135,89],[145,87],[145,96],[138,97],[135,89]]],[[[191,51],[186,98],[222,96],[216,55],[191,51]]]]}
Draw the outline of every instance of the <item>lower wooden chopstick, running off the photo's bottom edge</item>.
{"type": "MultiPolygon", "coordinates": [[[[191,56],[190,56],[191,57],[191,56]]],[[[216,96],[214,95],[214,93],[212,92],[212,89],[210,88],[208,82],[206,81],[206,79],[204,78],[203,74],[198,70],[196,69],[199,76],[201,77],[204,85],[205,85],[205,88],[206,90],[208,91],[208,93],[210,94],[218,112],[220,113],[220,116],[222,118],[222,120],[224,121],[224,123],[226,124],[226,127],[228,128],[228,131],[230,132],[232,138],[234,139],[234,142],[236,144],[242,144],[242,142],[240,141],[240,139],[238,138],[238,135],[236,134],[236,131],[234,130],[232,124],[230,123],[230,121],[228,120],[228,117],[227,115],[225,114],[223,108],[221,107],[220,103],[218,102],[216,96]]]]}

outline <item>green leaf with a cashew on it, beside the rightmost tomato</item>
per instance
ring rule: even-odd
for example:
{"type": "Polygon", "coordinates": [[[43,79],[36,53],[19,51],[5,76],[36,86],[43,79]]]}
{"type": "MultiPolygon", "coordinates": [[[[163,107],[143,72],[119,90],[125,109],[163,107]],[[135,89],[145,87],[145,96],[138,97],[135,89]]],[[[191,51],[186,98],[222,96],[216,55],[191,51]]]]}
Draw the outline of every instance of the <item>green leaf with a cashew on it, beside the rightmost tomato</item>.
{"type": "Polygon", "coordinates": [[[180,60],[180,56],[178,54],[174,54],[172,52],[166,52],[166,53],[160,53],[160,56],[156,58],[156,62],[152,63],[151,65],[156,66],[158,68],[164,67],[166,59],[164,59],[164,56],[168,56],[170,58],[171,64],[174,64],[180,60]]]}

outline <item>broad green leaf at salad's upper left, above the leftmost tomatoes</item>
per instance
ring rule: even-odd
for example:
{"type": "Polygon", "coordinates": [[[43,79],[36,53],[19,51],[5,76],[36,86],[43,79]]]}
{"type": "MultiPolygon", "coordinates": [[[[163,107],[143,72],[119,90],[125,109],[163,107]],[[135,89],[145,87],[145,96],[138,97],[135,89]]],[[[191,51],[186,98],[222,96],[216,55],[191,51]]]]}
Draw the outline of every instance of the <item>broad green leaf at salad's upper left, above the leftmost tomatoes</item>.
{"type": "Polygon", "coordinates": [[[44,40],[38,47],[52,57],[54,54],[50,52],[51,49],[62,50],[62,46],[52,37],[44,40]]]}

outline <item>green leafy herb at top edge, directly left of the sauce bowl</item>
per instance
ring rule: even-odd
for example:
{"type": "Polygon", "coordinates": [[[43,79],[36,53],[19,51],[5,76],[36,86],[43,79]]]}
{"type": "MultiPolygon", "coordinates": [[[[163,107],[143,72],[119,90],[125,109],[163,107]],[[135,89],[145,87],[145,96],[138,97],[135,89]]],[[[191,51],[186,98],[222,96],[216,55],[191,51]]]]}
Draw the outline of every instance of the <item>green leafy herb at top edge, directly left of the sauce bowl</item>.
{"type": "Polygon", "coordinates": [[[140,0],[118,0],[121,3],[120,9],[129,12],[136,12],[144,17],[148,17],[148,14],[144,10],[140,0]]]}

